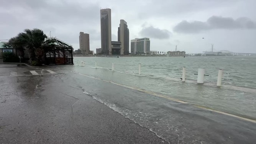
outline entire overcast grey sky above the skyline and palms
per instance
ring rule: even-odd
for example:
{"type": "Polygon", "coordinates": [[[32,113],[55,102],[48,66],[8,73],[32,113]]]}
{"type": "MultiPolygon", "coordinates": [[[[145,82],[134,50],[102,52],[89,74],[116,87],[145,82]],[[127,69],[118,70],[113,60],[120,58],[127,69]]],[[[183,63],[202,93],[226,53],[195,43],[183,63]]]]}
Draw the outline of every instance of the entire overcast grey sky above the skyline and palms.
{"type": "Polygon", "coordinates": [[[256,0],[0,0],[0,39],[39,28],[79,49],[79,32],[90,50],[101,47],[100,9],[111,8],[112,41],[120,19],[130,40],[147,37],[151,51],[256,53],[256,0]]]}

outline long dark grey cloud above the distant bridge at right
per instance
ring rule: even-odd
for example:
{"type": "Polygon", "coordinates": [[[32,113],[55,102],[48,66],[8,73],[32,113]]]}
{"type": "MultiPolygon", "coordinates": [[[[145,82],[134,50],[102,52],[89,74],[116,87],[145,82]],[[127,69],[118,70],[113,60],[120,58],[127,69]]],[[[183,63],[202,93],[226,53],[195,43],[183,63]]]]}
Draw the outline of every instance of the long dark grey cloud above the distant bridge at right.
{"type": "Polygon", "coordinates": [[[207,21],[181,21],[174,27],[178,33],[197,33],[210,29],[254,29],[256,23],[249,18],[241,17],[236,20],[228,17],[212,16],[207,21]]]}

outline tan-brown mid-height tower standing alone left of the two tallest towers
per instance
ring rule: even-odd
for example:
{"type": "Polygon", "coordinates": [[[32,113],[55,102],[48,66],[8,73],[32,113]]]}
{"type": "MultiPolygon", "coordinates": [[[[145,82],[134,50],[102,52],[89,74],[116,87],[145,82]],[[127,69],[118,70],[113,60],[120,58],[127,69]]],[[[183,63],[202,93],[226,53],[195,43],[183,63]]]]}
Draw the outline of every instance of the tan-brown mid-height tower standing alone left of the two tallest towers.
{"type": "Polygon", "coordinates": [[[90,38],[88,33],[80,32],[79,44],[82,54],[90,54],[90,38]]]}

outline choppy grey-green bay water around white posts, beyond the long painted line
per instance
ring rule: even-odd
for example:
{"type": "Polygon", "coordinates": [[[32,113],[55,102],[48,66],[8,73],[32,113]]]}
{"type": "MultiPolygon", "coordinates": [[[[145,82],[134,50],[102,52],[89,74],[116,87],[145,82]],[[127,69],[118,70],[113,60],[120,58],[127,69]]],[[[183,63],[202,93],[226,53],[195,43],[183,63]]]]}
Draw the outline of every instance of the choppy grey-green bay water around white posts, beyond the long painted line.
{"type": "Polygon", "coordinates": [[[82,74],[256,119],[255,56],[74,57],[74,64],[82,74]],[[186,67],[186,82],[180,79],[182,67],[186,67]],[[198,68],[209,75],[203,85],[196,83],[198,68]],[[219,69],[223,69],[223,87],[216,86],[219,69]]]}

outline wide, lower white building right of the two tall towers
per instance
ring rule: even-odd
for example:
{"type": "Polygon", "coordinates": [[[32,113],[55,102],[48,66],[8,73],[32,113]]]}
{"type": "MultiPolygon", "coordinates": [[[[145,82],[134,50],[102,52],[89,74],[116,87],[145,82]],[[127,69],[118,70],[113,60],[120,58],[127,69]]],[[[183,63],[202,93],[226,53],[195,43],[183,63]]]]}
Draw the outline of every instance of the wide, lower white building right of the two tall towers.
{"type": "Polygon", "coordinates": [[[146,54],[150,52],[149,38],[135,38],[131,40],[131,54],[146,54]]]}

